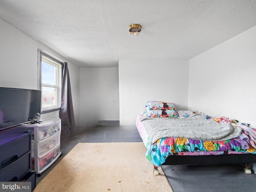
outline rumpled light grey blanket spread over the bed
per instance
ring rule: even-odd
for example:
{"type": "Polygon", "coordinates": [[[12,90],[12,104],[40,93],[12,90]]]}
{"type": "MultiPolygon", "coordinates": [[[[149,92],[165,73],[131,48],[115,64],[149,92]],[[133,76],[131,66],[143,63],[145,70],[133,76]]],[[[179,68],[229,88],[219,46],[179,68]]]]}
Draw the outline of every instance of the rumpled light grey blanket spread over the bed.
{"type": "Polygon", "coordinates": [[[180,137],[203,141],[222,141],[236,138],[241,128],[227,124],[219,124],[213,119],[206,120],[201,115],[190,118],[148,118],[140,119],[149,135],[150,142],[155,144],[160,138],[180,137]]]}

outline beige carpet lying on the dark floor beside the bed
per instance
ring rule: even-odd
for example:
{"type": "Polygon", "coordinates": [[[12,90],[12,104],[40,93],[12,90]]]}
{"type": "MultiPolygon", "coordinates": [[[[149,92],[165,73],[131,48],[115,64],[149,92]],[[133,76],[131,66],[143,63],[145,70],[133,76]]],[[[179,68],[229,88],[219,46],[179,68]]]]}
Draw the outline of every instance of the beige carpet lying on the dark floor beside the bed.
{"type": "Polygon", "coordinates": [[[78,143],[34,192],[172,192],[145,153],[142,142],[78,143]]]}

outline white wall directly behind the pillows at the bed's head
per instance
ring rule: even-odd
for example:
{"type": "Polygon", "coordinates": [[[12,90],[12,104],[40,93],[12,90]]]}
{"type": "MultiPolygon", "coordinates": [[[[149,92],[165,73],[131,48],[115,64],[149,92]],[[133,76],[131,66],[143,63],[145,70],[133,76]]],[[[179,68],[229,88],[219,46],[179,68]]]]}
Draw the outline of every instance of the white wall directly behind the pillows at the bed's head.
{"type": "Polygon", "coordinates": [[[188,108],[188,60],[120,60],[120,125],[135,125],[147,101],[188,108]]]}

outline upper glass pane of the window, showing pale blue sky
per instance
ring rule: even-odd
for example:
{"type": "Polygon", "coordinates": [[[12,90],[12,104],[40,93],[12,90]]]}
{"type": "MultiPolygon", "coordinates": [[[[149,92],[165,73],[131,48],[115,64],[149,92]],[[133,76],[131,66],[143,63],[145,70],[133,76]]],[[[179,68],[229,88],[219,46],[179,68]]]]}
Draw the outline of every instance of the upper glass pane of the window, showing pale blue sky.
{"type": "Polygon", "coordinates": [[[42,61],[42,83],[55,85],[55,67],[42,61]]]}

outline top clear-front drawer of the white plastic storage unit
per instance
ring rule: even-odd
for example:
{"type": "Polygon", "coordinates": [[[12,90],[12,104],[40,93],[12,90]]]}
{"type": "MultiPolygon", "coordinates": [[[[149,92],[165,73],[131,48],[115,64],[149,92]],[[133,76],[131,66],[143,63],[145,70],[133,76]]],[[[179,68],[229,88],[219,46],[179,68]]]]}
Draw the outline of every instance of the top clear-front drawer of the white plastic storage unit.
{"type": "Polygon", "coordinates": [[[61,120],[45,126],[41,126],[38,130],[38,141],[45,140],[50,136],[60,132],[61,120]]]}

